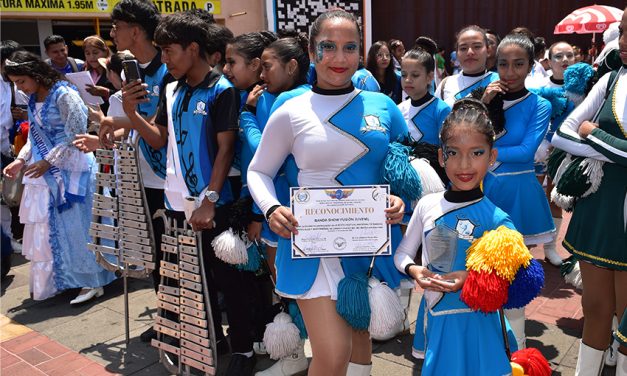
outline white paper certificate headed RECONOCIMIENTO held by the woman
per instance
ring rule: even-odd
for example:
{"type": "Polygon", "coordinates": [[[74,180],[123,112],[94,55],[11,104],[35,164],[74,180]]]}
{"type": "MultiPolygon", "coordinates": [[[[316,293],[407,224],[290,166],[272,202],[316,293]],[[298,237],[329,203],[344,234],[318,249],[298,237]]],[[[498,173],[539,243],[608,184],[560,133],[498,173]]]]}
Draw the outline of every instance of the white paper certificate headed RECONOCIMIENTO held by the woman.
{"type": "Polygon", "coordinates": [[[292,258],[391,255],[390,186],[290,188],[292,258]]]}

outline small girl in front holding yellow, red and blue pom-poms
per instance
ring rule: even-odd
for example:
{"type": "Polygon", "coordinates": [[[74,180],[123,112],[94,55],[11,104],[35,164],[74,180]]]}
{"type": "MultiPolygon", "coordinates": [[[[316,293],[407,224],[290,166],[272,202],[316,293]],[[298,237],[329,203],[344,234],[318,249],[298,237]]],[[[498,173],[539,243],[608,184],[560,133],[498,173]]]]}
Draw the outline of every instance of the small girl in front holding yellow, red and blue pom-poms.
{"type": "MultiPolygon", "coordinates": [[[[508,273],[503,276],[496,270],[476,273],[485,274],[485,278],[475,278],[472,291],[463,289],[469,273],[471,277],[473,273],[466,267],[466,253],[471,244],[474,246],[473,240],[500,226],[514,228],[507,214],[484,197],[480,188],[496,161],[494,136],[482,103],[470,98],[455,103],[440,131],[439,161],[451,181],[450,187],[418,202],[394,257],[396,267],[425,290],[428,325],[416,328],[417,339],[421,336],[418,331],[424,330],[426,335],[422,375],[512,372],[496,311],[509,303],[508,287],[520,263],[533,265],[529,263],[531,255],[522,243],[522,236],[506,230],[514,238],[518,235],[515,244],[519,257],[500,255],[500,247],[493,252],[493,263],[508,264],[508,273]],[[414,258],[421,244],[422,265],[417,265],[414,258]],[[472,294],[476,296],[469,296],[472,294]]],[[[490,270],[485,265],[481,268],[490,270]]],[[[536,293],[534,290],[531,295],[535,297],[536,293]]],[[[510,339],[509,343],[512,351],[515,350],[516,342],[510,339]]],[[[414,347],[415,356],[420,357],[419,351],[414,347]]]]}

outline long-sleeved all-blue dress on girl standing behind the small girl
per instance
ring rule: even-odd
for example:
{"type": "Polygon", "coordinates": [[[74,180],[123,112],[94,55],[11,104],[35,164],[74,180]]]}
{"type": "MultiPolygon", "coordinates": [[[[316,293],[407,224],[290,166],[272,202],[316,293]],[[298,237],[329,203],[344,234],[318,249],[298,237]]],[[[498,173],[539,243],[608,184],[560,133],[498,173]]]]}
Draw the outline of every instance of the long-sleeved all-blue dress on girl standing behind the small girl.
{"type": "Polygon", "coordinates": [[[534,155],[544,139],[551,117],[551,104],[523,91],[505,100],[505,129],[496,136],[497,162],[483,181],[483,188],[503,209],[526,244],[542,244],[555,236],[549,203],[535,176],[534,155]]]}

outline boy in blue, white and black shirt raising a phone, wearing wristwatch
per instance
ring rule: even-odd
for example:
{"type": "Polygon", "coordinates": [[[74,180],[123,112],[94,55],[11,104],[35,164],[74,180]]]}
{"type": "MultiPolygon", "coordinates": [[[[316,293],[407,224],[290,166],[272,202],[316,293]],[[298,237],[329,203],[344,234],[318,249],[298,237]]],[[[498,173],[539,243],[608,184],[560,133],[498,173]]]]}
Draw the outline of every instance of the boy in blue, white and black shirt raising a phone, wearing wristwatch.
{"type": "Polygon", "coordinates": [[[240,96],[209,64],[220,53],[220,41],[210,34],[206,24],[193,14],[162,17],[155,42],[161,47],[169,73],[178,81],[166,85],[154,123],[135,110],[137,104],[146,101],[142,97],[148,93],[147,85],[126,85],[124,107],[133,128],[151,147],[167,144],[166,214],[178,223],[187,219],[195,231],[202,232],[203,277],[217,318],[213,325],[218,342],[224,340],[224,334],[216,287],[224,293],[227,306],[233,355],[226,374],[252,375],[255,358],[250,293],[254,275],[220,261],[211,247],[212,239],[226,229],[229,204],[234,199],[227,176],[235,153],[240,96]],[[190,197],[198,206],[186,218],[190,197]]]}

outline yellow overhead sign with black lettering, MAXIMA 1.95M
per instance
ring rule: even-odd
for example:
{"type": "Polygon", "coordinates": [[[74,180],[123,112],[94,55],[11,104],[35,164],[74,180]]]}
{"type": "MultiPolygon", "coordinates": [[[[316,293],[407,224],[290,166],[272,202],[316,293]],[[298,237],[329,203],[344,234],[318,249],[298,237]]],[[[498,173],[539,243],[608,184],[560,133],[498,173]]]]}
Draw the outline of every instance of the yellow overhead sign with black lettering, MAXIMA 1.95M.
{"type": "MultiPolygon", "coordinates": [[[[0,12],[111,13],[119,0],[0,0],[0,12]]],[[[220,0],[154,0],[161,13],[205,9],[220,14],[220,0]]]]}

